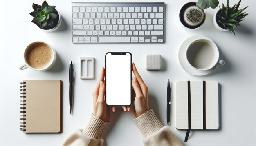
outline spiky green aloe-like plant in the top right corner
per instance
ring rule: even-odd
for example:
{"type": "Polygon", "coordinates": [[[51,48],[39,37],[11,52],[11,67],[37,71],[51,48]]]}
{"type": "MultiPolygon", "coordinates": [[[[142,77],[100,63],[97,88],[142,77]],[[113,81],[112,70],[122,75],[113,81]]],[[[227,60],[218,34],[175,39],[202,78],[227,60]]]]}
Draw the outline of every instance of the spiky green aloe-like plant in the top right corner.
{"type": "Polygon", "coordinates": [[[220,15],[217,15],[217,17],[219,18],[218,22],[223,25],[223,28],[226,30],[228,29],[234,35],[236,35],[234,28],[241,26],[239,22],[243,21],[243,18],[248,15],[248,13],[243,12],[248,6],[238,10],[241,1],[242,0],[239,0],[237,4],[230,8],[229,0],[227,0],[226,7],[224,6],[224,4],[222,4],[222,8],[220,8],[219,10],[220,15]]]}

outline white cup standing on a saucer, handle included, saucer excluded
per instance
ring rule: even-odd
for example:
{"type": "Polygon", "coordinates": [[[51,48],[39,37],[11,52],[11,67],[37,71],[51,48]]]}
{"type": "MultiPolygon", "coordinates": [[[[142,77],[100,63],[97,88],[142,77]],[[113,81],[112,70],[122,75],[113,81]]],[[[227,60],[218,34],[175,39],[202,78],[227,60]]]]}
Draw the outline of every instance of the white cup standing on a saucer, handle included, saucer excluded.
{"type": "Polygon", "coordinates": [[[224,65],[219,59],[219,50],[210,39],[197,39],[186,48],[186,61],[194,69],[207,71],[216,65],[224,65]]]}

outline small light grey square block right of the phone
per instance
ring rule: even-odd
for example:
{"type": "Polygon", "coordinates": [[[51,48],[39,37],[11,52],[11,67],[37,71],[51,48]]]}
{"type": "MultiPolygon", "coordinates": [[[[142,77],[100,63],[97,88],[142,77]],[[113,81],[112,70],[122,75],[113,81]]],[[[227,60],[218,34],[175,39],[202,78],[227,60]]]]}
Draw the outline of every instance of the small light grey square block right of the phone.
{"type": "Polygon", "coordinates": [[[159,54],[147,55],[147,70],[160,70],[162,68],[162,57],[159,54]]]}

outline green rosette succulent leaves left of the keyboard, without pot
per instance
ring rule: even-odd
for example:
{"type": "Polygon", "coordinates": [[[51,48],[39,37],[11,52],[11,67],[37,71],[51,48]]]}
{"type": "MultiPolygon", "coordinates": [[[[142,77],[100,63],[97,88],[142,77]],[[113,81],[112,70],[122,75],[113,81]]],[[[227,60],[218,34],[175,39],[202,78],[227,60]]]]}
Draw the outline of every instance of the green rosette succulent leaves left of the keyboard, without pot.
{"type": "Polygon", "coordinates": [[[30,13],[33,16],[34,24],[40,24],[41,28],[46,27],[54,27],[54,20],[58,17],[55,13],[55,6],[49,6],[46,1],[43,1],[42,5],[34,4],[32,5],[34,11],[30,13]]]}

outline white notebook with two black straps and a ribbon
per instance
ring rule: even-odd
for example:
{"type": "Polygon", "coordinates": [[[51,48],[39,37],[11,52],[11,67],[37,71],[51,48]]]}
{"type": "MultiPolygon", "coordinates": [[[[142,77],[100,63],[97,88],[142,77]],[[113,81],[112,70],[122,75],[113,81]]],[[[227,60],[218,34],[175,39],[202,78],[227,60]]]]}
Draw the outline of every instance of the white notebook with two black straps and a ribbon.
{"type": "Polygon", "coordinates": [[[188,129],[218,129],[218,82],[179,81],[175,84],[175,127],[188,129]]]}

